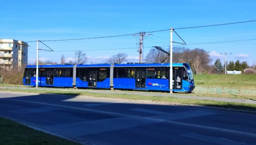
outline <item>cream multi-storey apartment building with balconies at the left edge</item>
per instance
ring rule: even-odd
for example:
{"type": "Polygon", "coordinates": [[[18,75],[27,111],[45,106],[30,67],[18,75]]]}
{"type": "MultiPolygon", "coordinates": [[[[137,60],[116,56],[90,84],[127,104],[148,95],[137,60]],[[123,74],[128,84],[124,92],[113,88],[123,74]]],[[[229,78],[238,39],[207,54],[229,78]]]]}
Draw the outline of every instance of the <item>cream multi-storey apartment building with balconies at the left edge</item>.
{"type": "Polygon", "coordinates": [[[0,66],[13,68],[26,65],[28,47],[23,41],[0,39],[0,66]]]}

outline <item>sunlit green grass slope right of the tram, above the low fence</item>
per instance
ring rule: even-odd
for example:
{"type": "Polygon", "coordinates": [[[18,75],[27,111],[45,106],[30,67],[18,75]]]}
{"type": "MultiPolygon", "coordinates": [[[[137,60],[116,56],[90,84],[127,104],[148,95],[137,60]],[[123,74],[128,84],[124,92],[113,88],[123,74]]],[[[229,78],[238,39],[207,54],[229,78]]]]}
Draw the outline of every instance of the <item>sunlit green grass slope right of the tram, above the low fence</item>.
{"type": "Polygon", "coordinates": [[[256,89],[256,75],[217,75],[202,74],[194,76],[195,85],[201,87],[226,87],[238,89],[256,89]]]}

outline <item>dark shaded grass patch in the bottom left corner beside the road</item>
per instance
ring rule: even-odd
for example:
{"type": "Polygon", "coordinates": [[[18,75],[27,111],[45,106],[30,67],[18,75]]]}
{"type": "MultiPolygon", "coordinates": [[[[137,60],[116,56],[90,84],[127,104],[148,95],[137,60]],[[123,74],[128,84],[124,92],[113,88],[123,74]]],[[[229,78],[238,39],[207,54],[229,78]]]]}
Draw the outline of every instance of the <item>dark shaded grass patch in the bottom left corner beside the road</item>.
{"type": "Polygon", "coordinates": [[[0,118],[0,144],[78,144],[0,118]]]}

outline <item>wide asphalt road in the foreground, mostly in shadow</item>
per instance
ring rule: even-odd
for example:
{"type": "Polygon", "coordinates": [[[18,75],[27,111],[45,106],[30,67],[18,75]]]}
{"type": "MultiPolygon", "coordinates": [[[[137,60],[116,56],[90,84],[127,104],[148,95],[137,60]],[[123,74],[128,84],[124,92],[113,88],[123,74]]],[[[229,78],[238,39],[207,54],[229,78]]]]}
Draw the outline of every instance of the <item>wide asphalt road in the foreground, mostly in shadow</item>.
{"type": "Polygon", "coordinates": [[[256,144],[256,115],[182,105],[0,92],[0,116],[84,144],[256,144]]]}

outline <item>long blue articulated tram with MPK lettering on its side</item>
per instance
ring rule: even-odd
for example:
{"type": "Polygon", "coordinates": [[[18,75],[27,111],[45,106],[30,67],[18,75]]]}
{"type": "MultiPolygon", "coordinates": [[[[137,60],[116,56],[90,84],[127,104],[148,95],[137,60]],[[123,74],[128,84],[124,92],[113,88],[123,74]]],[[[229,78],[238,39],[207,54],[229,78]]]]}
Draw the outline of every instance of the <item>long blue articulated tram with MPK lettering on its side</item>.
{"type": "MultiPolygon", "coordinates": [[[[170,91],[169,64],[40,65],[39,86],[170,91]]],[[[36,66],[27,66],[23,84],[35,86],[36,66]]],[[[194,89],[188,64],[173,64],[173,91],[194,89]]]]}

